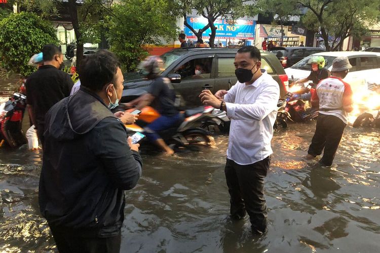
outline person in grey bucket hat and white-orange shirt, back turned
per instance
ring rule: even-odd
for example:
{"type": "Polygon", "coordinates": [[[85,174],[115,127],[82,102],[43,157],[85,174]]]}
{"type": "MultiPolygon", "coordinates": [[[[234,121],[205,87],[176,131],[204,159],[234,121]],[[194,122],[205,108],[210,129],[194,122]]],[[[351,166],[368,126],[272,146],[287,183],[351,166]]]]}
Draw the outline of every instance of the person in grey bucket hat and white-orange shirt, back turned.
{"type": "Polygon", "coordinates": [[[348,123],[348,113],[353,110],[351,86],[344,79],[352,68],[347,57],[337,57],[332,62],[331,77],[318,83],[311,102],[318,108],[319,116],[315,134],[306,159],[314,159],[323,151],[319,163],[330,166],[348,123]]]}

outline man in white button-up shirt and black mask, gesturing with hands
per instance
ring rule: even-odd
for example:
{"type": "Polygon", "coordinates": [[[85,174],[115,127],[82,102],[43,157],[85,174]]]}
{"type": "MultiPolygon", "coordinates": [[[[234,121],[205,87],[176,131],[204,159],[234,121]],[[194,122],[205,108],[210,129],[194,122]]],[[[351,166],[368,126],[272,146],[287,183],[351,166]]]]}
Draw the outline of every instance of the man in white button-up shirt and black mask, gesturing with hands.
{"type": "Polygon", "coordinates": [[[209,90],[201,93],[205,105],[226,111],[231,119],[230,139],[225,164],[225,177],[231,197],[231,217],[243,219],[246,212],[252,232],[267,231],[267,204],[264,177],[273,153],[271,140],[280,97],[278,83],[260,69],[260,51],[244,46],[235,57],[238,82],[215,96],[209,90]]]}

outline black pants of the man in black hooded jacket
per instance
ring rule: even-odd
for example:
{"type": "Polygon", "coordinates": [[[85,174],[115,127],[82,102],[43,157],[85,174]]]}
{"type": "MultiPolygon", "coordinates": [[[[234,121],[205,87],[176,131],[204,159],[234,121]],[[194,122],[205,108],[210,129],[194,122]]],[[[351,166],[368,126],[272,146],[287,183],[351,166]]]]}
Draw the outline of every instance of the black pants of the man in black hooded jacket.
{"type": "Polygon", "coordinates": [[[119,253],[121,232],[107,238],[83,237],[69,231],[50,226],[55,243],[60,253],[119,253]]]}

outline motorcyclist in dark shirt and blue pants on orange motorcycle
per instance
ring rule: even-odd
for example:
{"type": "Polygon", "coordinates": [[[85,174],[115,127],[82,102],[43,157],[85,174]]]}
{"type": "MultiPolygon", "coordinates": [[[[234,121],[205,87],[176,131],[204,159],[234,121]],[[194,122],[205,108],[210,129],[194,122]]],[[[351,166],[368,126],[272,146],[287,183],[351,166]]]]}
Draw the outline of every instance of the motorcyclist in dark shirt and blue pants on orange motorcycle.
{"type": "Polygon", "coordinates": [[[136,105],[136,109],[141,110],[151,104],[161,114],[158,119],[145,126],[144,134],[167,154],[173,154],[174,151],[158,135],[158,132],[170,128],[180,119],[175,106],[176,95],[173,86],[169,79],[160,75],[162,66],[163,61],[158,56],[150,56],[141,63],[140,67],[146,71],[146,77],[153,82],[147,94],[127,103],[126,106],[136,105]]]}

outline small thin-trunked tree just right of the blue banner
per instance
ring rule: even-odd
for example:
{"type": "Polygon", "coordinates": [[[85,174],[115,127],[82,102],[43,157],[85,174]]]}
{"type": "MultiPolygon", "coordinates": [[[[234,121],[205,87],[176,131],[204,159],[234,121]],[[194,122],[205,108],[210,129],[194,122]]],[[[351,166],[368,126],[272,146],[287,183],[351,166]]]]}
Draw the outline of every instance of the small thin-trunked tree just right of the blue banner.
{"type": "Polygon", "coordinates": [[[256,7],[264,15],[272,14],[273,23],[281,25],[281,46],[283,44],[284,23],[289,22],[292,17],[300,15],[294,0],[258,0],[256,7]]]}

